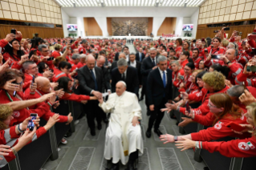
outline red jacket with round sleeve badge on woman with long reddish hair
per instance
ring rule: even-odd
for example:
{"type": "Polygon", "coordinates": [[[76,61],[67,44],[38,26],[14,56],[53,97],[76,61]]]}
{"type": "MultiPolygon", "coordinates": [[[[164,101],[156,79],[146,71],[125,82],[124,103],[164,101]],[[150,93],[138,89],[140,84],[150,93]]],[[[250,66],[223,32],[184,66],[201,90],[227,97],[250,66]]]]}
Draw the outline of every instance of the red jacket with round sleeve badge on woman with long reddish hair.
{"type": "MultiPolygon", "coordinates": [[[[205,117],[205,116],[204,116],[205,117]]],[[[203,119],[202,117],[200,119],[203,119]]],[[[227,123],[235,122],[235,123],[246,123],[246,117],[242,115],[241,118],[233,119],[230,114],[227,114],[224,118],[219,119],[217,123],[214,124],[213,127],[208,127],[207,129],[201,130],[199,132],[191,133],[192,140],[196,141],[210,141],[210,140],[218,140],[226,136],[238,137],[240,139],[244,139],[246,137],[250,137],[250,133],[244,133],[242,135],[238,135],[232,131],[230,127],[226,127],[227,123]]]]}

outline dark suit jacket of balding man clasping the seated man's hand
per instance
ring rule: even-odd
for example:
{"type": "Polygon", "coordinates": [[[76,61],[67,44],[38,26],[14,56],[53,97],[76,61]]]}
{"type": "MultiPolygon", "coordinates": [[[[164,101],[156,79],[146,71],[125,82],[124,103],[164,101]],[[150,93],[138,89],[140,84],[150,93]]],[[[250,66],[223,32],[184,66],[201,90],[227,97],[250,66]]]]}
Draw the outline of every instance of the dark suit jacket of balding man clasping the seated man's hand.
{"type": "MultiPolygon", "coordinates": [[[[104,76],[100,67],[95,67],[96,82],[98,90],[104,92],[104,76]]],[[[79,80],[79,88],[83,95],[91,95],[91,91],[95,90],[95,83],[91,75],[91,71],[87,66],[77,70],[77,79],[79,80]]]]}

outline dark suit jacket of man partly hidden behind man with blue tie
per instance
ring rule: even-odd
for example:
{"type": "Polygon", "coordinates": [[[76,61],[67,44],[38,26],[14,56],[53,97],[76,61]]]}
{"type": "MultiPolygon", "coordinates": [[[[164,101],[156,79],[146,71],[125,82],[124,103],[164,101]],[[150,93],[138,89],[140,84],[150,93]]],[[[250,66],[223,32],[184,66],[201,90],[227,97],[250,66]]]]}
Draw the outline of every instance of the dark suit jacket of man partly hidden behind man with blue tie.
{"type": "MultiPolygon", "coordinates": [[[[156,56],[157,59],[157,56],[156,56]]],[[[142,75],[142,85],[144,87],[146,87],[147,85],[147,78],[148,78],[148,74],[150,71],[152,71],[152,67],[154,67],[152,60],[150,58],[150,56],[148,56],[147,58],[143,59],[142,63],[141,63],[141,75],[142,75]]]]}

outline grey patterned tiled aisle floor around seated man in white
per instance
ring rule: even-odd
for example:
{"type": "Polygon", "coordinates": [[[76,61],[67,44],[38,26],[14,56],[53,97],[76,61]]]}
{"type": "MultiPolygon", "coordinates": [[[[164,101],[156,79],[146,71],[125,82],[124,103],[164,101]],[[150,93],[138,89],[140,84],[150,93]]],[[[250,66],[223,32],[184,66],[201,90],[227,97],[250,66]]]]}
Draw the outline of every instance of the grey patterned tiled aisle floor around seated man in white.
{"type": "MultiPolygon", "coordinates": [[[[128,45],[130,49],[133,47],[128,45]]],[[[134,52],[131,51],[130,52],[134,52]]],[[[141,122],[142,136],[144,139],[144,155],[138,160],[138,170],[203,170],[204,163],[193,160],[193,150],[181,152],[174,144],[163,144],[159,137],[152,132],[151,138],[146,138],[144,132],[148,127],[148,116],[144,101],[140,102],[143,112],[141,122]]],[[[163,133],[180,135],[175,125],[176,120],[170,119],[165,114],[160,130],[163,133]]],[[[96,136],[91,136],[85,118],[80,119],[75,126],[75,133],[67,138],[67,145],[60,145],[59,159],[48,160],[43,170],[104,170],[107,161],[104,160],[105,124],[101,131],[96,131],[96,136]]],[[[125,166],[121,165],[120,170],[125,166]]]]}

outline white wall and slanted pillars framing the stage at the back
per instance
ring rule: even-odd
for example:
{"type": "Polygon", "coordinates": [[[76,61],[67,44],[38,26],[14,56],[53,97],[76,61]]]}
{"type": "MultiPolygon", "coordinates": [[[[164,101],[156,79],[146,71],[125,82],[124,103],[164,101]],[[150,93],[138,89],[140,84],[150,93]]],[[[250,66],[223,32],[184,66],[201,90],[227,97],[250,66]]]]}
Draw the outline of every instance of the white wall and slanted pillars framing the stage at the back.
{"type": "MultiPolygon", "coordinates": [[[[70,16],[71,23],[76,18],[79,25],[78,36],[82,37],[85,36],[83,17],[94,17],[103,31],[103,37],[108,36],[107,17],[152,17],[152,34],[155,36],[165,17],[177,17],[175,34],[182,37],[182,24],[192,23],[192,15],[193,22],[197,22],[199,12],[198,7],[65,7],[62,10],[70,16]]],[[[196,34],[193,34],[193,37],[195,36],[196,34]]]]}

